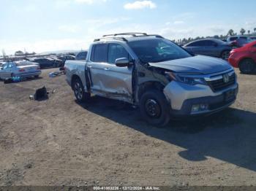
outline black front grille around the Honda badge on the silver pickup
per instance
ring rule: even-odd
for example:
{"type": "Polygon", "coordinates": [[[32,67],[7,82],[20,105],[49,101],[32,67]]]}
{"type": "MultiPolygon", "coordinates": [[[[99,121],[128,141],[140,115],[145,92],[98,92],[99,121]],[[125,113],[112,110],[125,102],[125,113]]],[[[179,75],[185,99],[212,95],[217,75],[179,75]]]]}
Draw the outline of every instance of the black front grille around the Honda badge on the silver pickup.
{"type": "Polygon", "coordinates": [[[229,87],[230,85],[234,85],[236,83],[236,74],[233,73],[230,75],[230,79],[228,82],[224,82],[224,79],[216,79],[213,81],[208,81],[208,85],[211,87],[211,90],[214,92],[224,90],[226,87],[229,87]]]}

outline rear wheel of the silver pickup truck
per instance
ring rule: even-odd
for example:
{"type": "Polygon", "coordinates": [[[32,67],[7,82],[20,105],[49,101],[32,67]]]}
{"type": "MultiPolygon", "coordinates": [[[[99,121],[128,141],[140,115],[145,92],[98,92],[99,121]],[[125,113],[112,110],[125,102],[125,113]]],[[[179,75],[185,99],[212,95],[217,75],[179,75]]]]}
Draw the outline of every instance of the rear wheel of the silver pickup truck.
{"type": "Polygon", "coordinates": [[[75,93],[75,98],[78,100],[78,102],[83,103],[91,97],[90,93],[86,93],[84,91],[83,83],[79,78],[74,79],[74,82],[72,82],[72,87],[75,93]]]}

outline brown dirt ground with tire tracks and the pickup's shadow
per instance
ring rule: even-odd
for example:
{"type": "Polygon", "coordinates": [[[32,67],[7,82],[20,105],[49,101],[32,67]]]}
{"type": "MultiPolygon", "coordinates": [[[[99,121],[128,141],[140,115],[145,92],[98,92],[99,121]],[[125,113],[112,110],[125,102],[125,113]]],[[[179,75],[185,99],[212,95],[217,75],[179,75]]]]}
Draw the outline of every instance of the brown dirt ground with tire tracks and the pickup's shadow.
{"type": "Polygon", "coordinates": [[[0,82],[0,186],[256,185],[256,75],[236,71],[230,109],[156,128],[129,104],[76,103],[65,77],[50,71],[0,82]],[[44,85],[48,100],[31,101],[44,85]]]}

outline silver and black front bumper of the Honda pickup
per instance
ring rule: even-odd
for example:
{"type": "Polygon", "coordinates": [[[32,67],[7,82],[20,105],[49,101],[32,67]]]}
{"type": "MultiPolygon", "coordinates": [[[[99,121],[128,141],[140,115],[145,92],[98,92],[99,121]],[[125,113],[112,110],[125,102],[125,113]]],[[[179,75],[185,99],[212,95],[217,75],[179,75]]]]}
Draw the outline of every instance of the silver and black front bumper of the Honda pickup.
{"type": "Polygon", "coordinates": [[[170,82],[164,89],[170,101],[170,114],[175,116],[207,115],[219,112],[236,101],[238,84],[214,93],[208,85],[186,85],[170,82]],[[231,96],[229,96],[231,95],[231,96]]]}

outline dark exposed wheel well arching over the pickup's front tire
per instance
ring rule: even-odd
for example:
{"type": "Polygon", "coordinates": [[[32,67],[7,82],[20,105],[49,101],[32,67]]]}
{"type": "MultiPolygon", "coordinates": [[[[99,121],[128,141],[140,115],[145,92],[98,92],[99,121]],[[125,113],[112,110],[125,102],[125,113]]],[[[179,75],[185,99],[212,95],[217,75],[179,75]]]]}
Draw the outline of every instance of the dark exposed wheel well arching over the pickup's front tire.
{"type": "Polygon", "coordinates": [[[162,85],[161,82],[144,82],[143,84],[141,84],[138,88],[138,93],[137,93],[137,97],[138,97],[138,101],[140,100],[141,96],[143,95],[143,93],[145,93],[147,90],[164,90],[165,86],[162,85]]]}

